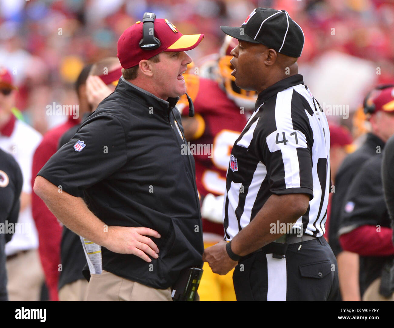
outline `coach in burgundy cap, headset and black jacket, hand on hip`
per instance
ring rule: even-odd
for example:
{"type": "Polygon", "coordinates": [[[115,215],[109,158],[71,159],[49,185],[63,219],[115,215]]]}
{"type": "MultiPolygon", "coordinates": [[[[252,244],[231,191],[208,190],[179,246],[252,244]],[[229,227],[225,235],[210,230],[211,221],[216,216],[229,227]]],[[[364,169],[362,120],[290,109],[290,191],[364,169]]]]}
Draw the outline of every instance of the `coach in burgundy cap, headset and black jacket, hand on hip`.
{"type": "Polygon", "coordinates": [[[123,32],[115,91],[35,180],[59,221],[102,246],[87,300],[172,300],[181,271],[203,265],[194,159],[182,152],[175,105],[186,93],[185,51],[204,35],[155,18],[146,13],[123,32]]]}

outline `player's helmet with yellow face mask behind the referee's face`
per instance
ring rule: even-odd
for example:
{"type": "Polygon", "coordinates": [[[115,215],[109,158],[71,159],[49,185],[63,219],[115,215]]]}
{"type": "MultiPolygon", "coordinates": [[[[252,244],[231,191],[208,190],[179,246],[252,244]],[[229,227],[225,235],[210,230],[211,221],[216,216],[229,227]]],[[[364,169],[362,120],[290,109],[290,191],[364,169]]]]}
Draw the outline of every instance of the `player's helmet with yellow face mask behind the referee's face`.
{"type": "Polygon", "coordinates": [[[230,63],[230,60],[232,59],[230,52],[237,45],[237,39],[226,35],[223,45],[219,51],[219,60],[217,65],[218,82],[221,83],[227,93],[227,96],[234,101],[237,106],[243,107],[246,110],[251,110],[255,108],[257,92],[240,89],[235,84],[235,77],[231,75],[234,67],[232,67],[230,63]]]}

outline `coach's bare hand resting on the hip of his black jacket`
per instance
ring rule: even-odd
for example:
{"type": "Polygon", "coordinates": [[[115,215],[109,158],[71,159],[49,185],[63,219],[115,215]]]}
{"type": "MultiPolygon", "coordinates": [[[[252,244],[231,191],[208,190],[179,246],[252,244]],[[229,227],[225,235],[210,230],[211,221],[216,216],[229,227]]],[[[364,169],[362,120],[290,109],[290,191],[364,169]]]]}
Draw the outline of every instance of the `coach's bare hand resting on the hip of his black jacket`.
{"type": "Polygon", "coordinates": [[[112,252],[120,254],[134,254],[144,261],[151,262],[157,259],[159,248],[151,238],[145,235],[160,238],[160,234],[150,228],[130,228],[121,226],[108,227],[108,238],[103,245],[112,252]],[[148,256],[149,255],[149,256],[148,256]]]}

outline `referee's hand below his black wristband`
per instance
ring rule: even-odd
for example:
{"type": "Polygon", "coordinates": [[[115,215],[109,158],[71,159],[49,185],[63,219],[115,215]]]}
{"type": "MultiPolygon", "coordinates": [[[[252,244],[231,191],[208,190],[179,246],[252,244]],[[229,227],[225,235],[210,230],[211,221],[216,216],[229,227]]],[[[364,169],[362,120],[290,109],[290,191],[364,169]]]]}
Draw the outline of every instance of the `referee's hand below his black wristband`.
{"type": "Polygon", "coordinates": [[[227,241],[222,240],[216,245],[204,250],[203,261],[208,262],[214,273],[221,275],[227,274],[238,264],[238,261],[230,259],[227,254],[226,245],[227,241]]]}

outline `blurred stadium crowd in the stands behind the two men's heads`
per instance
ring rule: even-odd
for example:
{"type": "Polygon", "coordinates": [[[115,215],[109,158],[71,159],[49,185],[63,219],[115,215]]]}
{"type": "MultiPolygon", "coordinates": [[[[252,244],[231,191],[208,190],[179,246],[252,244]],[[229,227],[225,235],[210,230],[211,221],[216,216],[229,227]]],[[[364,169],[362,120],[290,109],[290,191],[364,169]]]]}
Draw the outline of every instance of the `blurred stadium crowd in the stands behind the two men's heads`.
{"type": "MultiPolygon", "coordinates": [[[[198,65],[219,50],[220,25],[239,26],[258,6],[284,8],[302,26],[299,72],[323,107],[353,113],[370,87],[394,81],[390,0],[0,0],[0,63],[14,74],[24,119],[45,133],[66,120],[46,115],[46,106],[76,104],[73,83],[84,63],[116,56],[117,39],[145,11],[169,19],[184,34],[205,34],[190,51],[198,65]]],[[[351,115],[328,116],[351,127],[351,115]]]]}

